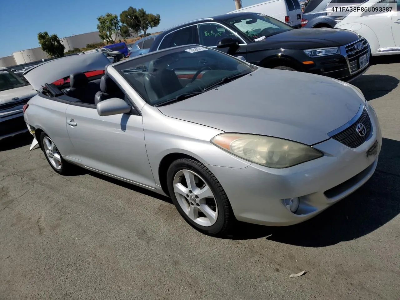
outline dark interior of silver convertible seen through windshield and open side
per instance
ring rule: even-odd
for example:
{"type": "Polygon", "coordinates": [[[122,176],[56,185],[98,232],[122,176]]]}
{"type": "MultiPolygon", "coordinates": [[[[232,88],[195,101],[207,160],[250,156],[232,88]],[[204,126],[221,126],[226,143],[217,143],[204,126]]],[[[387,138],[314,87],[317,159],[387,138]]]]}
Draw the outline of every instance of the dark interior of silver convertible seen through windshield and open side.
{"type": "MultiPolygon", "coordinates": [[[[201,91],[206,85],[232,75],[232,71],[246,68],[236,63],[220,65],[212,56],[205,57],[204,63],[200,59],[197,64],[198,59],[198,56],[194,58],[189,52],[178,56],[166,55],[146,63],[146,66],[137,65],[123,69],[122,73],[142,98],[150,104],[156,104],[183,93],[201,91]]],[[[66,96],[73,98],[74,100],[70,99],[72,102],[96,106],[109,98],[128,101],[125,93],[107,74],[88,78],[85,73],[76,72],[69,76],[69,82],[66,78],[63,80],[60,90],[66,96]]]]}

